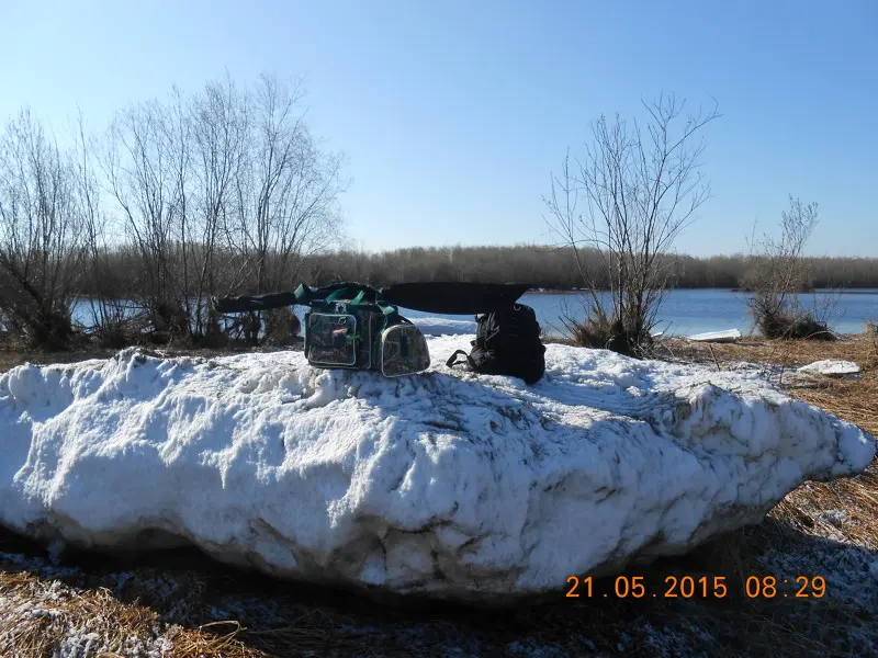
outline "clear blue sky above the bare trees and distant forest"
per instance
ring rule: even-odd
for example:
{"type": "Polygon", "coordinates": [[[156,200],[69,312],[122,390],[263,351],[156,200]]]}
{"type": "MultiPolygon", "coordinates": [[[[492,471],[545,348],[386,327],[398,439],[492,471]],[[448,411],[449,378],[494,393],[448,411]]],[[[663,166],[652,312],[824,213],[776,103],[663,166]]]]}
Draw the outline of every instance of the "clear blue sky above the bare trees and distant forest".
{"type": "Polygon", "coordinates": [[[820,205],[812,253],[878,257],[876,0],[0,0],[0,117],[97,129],[226,71],[304,77],[369,250],[544,241],[566,148],[665,91],[723,114],[682,251],[744,250],[791,193],[820,205]]]}

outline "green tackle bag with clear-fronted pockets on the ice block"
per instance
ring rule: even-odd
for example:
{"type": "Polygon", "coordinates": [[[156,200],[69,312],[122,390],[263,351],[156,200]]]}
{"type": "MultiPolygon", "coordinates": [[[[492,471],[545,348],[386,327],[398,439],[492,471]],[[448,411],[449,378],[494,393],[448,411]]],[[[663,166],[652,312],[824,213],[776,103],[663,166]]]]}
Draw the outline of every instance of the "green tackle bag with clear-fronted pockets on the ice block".
{"type": "Polygon", "coordinates": [[[305,358],[317,367],[373,370],[385,377],[423,372],[430,365],[420,329],[359,283],[312,290],[302,284],[295,303],[305,313],[305,358]]]}

